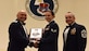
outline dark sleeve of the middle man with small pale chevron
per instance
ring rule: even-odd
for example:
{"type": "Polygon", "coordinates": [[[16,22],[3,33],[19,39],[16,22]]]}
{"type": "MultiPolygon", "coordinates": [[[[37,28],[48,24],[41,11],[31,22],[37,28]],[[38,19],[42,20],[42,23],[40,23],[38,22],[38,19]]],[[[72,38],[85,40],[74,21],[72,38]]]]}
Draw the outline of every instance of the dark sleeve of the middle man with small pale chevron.
{"type": "Polygon", "coordinates": [[[58,36],[59,36],[59,26],[58,25],[52,25],[50,27],[50,30],[44,33],[44,35],[47,35],[47,37],[41,39],[41,43],[51,43],[51,42],[56,41],[58,36]]]}

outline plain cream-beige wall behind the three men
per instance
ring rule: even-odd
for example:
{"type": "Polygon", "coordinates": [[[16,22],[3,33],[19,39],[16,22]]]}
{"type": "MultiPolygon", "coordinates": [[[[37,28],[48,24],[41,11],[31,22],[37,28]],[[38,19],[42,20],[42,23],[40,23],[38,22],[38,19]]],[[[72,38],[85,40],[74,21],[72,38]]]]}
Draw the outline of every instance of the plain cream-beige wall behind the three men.
{"type": "MultiPolygon", "coordinates": [[[[8,42],[9,42],[9,34],[8,28],[12,21],[16,18],[17,11],[25,9],[26,0],[0,0],[0,51],[7,51],[8,42]]],[[[59,0],[59,11],[55,14],[55,21],[60,26],[60,35],[59,35],[59,51],[63,49],[63,39],[62,33],[64,27],[66,26],[64,14],[67,11],[71,11],[76,16],[76,22],[86,26],[87,31],[89,31],[89,0],[59,0]]],[[[31,27],[41,27],[43,28],[47,25],[46,21],[34,20],[28,15],[26,21],[27,29],[31,27]]],[[[89,37],[89,36],[88,36],[89,37]]],[[[89,38],[88,38],[89,39],[89,38]]],[[[89,40],[88,40],[89,42],[89,40]]],[[[37,51],[35,48],[26,48],[26,51],[37,51]]],[[[86,51],[89,50],[89,43],[87,43],[86,51]]]]}

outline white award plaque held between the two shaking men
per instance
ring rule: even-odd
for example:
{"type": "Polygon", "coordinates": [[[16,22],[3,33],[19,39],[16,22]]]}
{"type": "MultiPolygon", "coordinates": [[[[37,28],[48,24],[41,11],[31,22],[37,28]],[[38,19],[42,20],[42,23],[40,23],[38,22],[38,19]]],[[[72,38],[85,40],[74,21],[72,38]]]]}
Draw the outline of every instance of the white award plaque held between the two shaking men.
{"type": "Polygon", "coordinates": [[[31,28],[29,40],[34,41],[35,39],[39,39],[42,37],[42,28],[31,28]]]}

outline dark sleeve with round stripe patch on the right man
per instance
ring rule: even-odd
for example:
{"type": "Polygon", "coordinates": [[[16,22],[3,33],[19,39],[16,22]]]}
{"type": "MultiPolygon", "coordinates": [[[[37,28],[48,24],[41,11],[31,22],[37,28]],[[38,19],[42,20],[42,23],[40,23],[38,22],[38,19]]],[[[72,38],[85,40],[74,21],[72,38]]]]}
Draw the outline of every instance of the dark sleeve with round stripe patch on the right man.
{"type": "Polygon", "coordinates": [[[85,26],[80,26],[77,35],[78,41],[78,51],[85,51],[87,43],[87,30],[85,26]]]}

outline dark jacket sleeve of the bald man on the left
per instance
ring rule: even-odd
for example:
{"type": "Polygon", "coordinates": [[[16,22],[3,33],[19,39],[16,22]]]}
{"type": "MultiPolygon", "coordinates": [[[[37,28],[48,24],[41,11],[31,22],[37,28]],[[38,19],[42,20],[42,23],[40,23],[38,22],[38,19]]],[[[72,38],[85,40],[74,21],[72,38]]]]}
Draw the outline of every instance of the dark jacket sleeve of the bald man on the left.
{"type": "Polygon", "coordinates": [[[17,25],[17,23],[12,23],[9,27],[9,34],[11,36],[11,40],[13,41],[17,41],[21,43],[28,43],[28,39],[22,35],[22,31],[20,29],[20,26],[17,25]]]}

